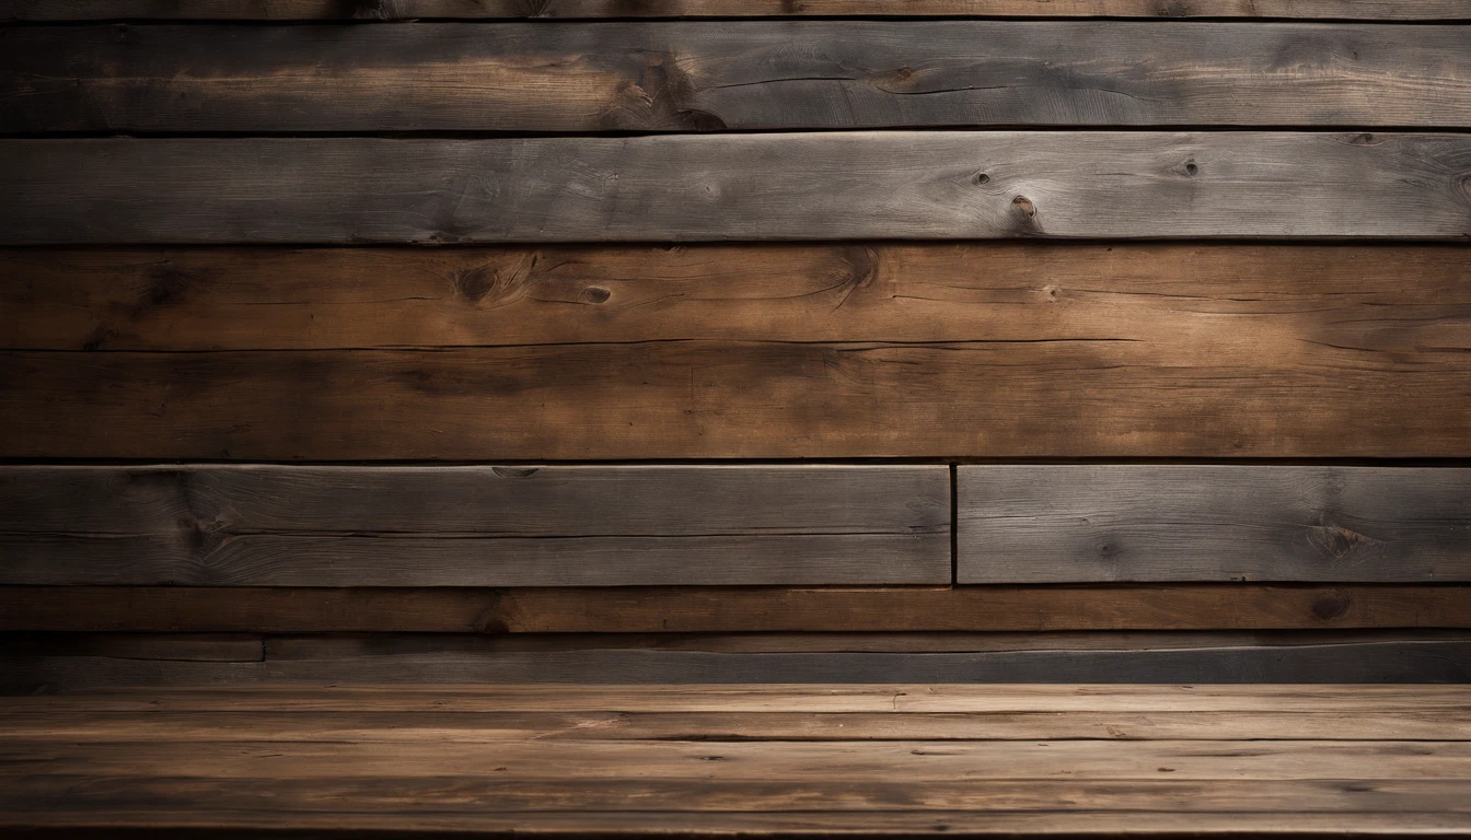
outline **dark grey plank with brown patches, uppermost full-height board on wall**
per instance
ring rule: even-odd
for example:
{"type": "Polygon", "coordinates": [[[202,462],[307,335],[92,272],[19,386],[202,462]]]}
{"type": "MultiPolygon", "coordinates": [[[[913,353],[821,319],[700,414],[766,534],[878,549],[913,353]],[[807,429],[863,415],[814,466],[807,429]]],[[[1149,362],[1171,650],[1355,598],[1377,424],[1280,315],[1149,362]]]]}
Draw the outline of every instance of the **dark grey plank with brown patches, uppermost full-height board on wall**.
{"type": "Polygon", "coordinates": [[[1461,25],[28,26],[0,132],[1471,125],[1461,25]]]}

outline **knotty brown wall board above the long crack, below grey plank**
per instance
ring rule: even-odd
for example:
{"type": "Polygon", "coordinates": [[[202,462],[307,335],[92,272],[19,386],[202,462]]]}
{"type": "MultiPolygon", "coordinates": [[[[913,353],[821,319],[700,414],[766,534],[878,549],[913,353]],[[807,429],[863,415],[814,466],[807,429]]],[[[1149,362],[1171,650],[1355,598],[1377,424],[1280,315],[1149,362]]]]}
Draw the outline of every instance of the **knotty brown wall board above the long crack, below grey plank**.
{"type": "Polygon", "coordinates": [[[1424,368],[1471,347],[1468,274],[1445,244],[12,249],[0,347],[1114,338],[1172,363],[1424,368]]]}

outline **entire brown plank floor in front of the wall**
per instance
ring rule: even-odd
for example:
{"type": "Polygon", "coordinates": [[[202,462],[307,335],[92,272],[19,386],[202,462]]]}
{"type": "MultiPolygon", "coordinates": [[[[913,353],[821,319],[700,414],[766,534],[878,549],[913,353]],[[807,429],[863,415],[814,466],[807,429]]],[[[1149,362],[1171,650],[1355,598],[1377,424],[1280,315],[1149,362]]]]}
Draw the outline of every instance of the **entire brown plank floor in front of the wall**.
{"type": "Polygon", "coordinates": [[[6,836],[1471,836],[1456,686],[150,688],[0,719],[6,836]]]}

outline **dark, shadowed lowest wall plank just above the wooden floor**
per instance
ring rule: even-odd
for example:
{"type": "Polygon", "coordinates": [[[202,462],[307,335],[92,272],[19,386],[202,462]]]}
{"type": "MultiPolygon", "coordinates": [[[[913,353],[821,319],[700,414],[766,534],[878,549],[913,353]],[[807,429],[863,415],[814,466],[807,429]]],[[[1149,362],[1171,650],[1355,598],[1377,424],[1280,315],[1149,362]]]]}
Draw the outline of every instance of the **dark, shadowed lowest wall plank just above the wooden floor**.
{"type": "Polygon", "coordinates": [[[259,659],[110,638],[6,640],[0,690],[293,683],[1467,683],[1464,631],[797,637],[266,637],[259,659]]]}

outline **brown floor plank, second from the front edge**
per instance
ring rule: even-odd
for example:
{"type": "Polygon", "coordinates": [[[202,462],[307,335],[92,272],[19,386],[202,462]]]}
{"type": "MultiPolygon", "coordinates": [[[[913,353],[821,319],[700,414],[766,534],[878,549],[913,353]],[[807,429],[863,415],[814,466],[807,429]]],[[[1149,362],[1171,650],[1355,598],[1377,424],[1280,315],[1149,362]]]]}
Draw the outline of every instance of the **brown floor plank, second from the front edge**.
{"type": "MultiPolygon", "coordinates": [[[[549,741],[550,744],[552,741],[549,741]]],[[[950,741],[953,743],[953,741],[950,741]]],[[[922,743],[913,749],[949,750],[950,743],[922,743]]],[[[1194,741],[1200,744],[1202,741],[1194,741]]],[[[1371,741],[1374,743],[1374,741],[1371,741]]],[[[275,741],[272,741],[272,746],[275,741]]],[[[169,744],[171,747],[179,744],[169,744]]],[[[238,747],[238,744],[232,744],[238,747]]],[[[243,752],[254,755],[260,747],[243,752]]],[[[396,744],[402,746],[402,744],[396,744]]],[[[906,744],[912,747],[913,744],[906,744]]],[[[90,747],[103,752],[96,744],[90,747]]],[[[287,758],[294,758],[293,744],[282,746],[287,758]]],[[[481,744],[487,759],[494,761],[500,743],[481,744]],[[487,749],[488,747],[488,749],[487,749]]],[[[0,747],[3,749],[3,747],[0,747]]],[[[272,747],[274,749],[274,747],[272,747]]],[[[378,746],[381,750],[382,747],[378,746]]],[[[719,749],[719,747],[706,747],[719,749]]],[[[1240,747],[1237,747],[1240,749],[1240,747]]],[[[1256,749],[1255,746],[1252,749],[1256,749]]],[[[1386,749],[1390,749],[1386,744],[1386,749]]],[[[43,752],[43,750],[38,750],[43,752]]],[[[553,750],[555,752],[555,750],[553,750]]],[[[946,755],[946,753],[919,753],[946,755]]],[[[638,752],[630,750],[637,761],[638,752]]],[[[709,758],[709,756],[700,756],[709,758]]],[[[724,758],[724,756],[722,756],[724,758]]],[[[1061,756],[1059,756],[1061,758],[1061,756]]],[[[1168,761],[1168,759],[1167,759],[1168,761]]],[[[188,766],[185,759],[181,765],[188,766]]],[[[266,764],[266,762],[262,762],[266,764]]],[[[271,762],[274,765],[275,762],[271,762]]],[[[897,764],[897,762],[896,762],[897,764]]],[[[1180,762],[1174,762],[1180,764],[1180,762]]],[[[758,764],[758,766],[761,766],[758,764]]],[[[153,811],[187,809],[210,803],[219,811],[271,811],[300,814],[332,806],[352,812],[443,814],[471,812],[580,812],[580,811],[669,811],[669,812],[812,812],[843,809],[849,812],[883,812],[936,809],[999,809],[999,811],[1172,811],[1218,812],[1242,811],[1258,814],[1322,814],[1334,811],[1456,814],[1471,809],[1467,780],[1178,780],[1168,774],[1159,778],[1130,780],[912,780],[902,774],[909,766],[893,766],[888,780],[858,774],[846,780],[787,780],[780,775],[761,780],[519,780],[505,774],[450,774],[435,778],[290,778],[212,775],[174,775],[172,768],[156,771],[159,777],[97,777],[76,772],[32,774],[6,780],[7,790],[0,805],[9,812],[34,814],[46,811],[104,809],[153,811]],[[900,778],[902,781],[896,781],[900,778]],[[78,783],[87,780],[78,794],[78,783]],[[96,794],[90,791],[99,791],[96,794]],[[474,806],[469,805],[474,802],[474,806]]],[[[59,768],[60,771],[62,768],[59,768]]],[[[488,768],[484,768],[488,769],[488,768]]],[[[781,772],[784,768],[772,768],[781,772]]],[[[877,775],[877,774],[875,774],[877,775]]]]}

